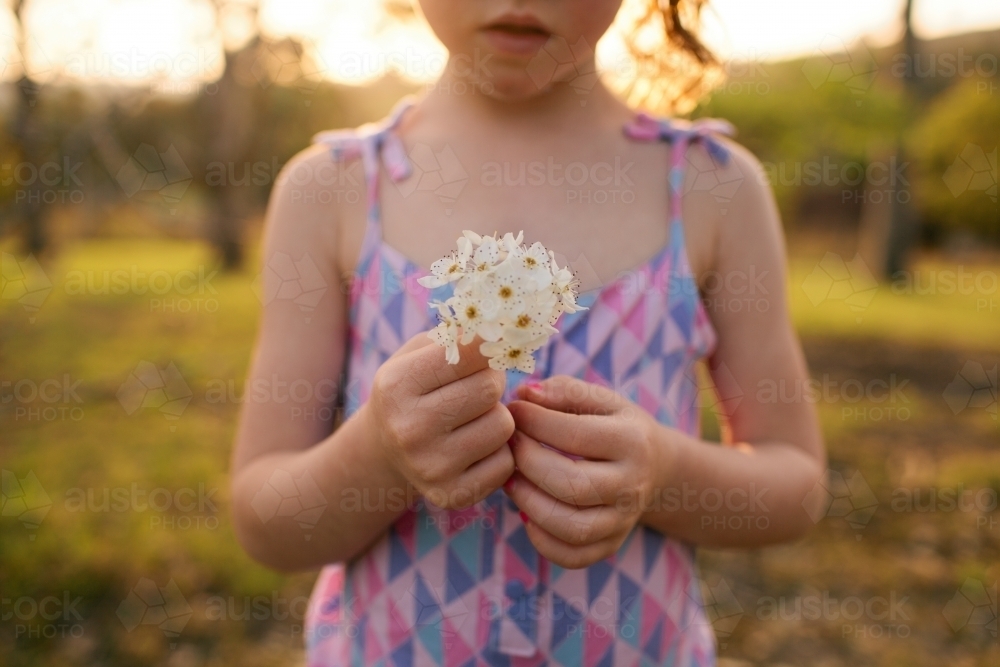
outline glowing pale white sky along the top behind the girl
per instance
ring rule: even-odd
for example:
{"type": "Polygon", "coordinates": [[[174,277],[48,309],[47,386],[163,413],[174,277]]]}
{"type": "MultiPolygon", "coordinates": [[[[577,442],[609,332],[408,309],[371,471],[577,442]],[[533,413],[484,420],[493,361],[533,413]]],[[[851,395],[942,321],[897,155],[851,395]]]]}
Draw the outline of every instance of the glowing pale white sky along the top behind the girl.
{"type": "MultiPolygon", "coordinates": [[[[9,4],[9,3],[5,3],[9,4]]],[[[419,20],[385,14],[377,0],[29,0],[30,39],[18,47],[9,6],[0,10],[0,78],[20,75],[24,53],[39,81],[155,85],[218,78],[223,48],[235,49],[259,29],[265,37],[301,40],[319,75],[362,84],[387,73],[433,80],[446,53],[419,20]],[[255,8],[258,15],[254,17],[255,8]]],[[[816,53],[821,43],[860,39],[881,45],[900,35],[902,0],[712,0],[705,41],[723,58],[776,60],[816,53]]],[[[917,0],[924,37],[1000,26],[996,0],[917,0]]],[[[22,40],[23,41],[23,40],[22,40]]],[[[598,45],[607,70],[627,60],[610,31],[598,45]]]]}

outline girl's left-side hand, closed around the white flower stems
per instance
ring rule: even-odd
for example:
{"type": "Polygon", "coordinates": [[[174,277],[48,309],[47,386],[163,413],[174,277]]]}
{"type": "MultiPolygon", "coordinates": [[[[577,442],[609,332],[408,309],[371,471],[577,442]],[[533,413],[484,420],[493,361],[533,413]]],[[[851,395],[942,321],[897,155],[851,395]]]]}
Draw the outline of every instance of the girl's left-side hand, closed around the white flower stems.
{"type": "Polygon", "coordinates": [[[478,339],[457,364],[426,332],[408,340],[375,373],[362,408],[385,460],[431,503],[464,509],[514,473],[507,444],[514,418],[500,403],[502,371],[489,367],[478,339]]]}

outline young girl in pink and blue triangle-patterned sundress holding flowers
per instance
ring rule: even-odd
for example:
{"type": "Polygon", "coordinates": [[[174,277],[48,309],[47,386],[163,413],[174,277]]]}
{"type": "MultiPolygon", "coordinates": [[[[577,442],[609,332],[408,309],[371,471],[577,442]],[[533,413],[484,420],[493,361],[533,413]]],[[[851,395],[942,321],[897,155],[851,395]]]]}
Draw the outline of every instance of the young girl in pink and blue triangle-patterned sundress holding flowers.
{"type": "MultiPolygon", "coordinates": [[[[707,60],[685,1],[651,5],[661,62],[707,60]]],[[[766,180],[727,124],[595,81],[620,2],[421,0],[441,79],[274,189],[232,494],[251,555],[323,566],[313,667],[714,664],[695,546],[812,523],[815,414],[761,392],[807,380],[766,180]],[[427,338],[447,286],[417,280],[464,229],[576,271],[588,309],[530,376],[427,338]],[[705,358],[724,446],[698,436],[705,358]]]]}

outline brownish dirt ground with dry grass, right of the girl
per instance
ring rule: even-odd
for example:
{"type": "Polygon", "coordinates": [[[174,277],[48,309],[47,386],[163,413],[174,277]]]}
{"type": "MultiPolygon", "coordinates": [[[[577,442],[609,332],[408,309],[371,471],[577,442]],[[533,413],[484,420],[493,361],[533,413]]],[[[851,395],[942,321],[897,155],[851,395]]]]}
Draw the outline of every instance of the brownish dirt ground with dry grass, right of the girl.
{"type": "Polygon", "coordinates": [[[875,339],[803,346],[813,378],[895,381],[898,396],[849,403],[845,390],[819,405],[830,470],[861,511],[831,506],[795,544],[701,552],[720,664],[1000,664],[1000,355],[875,339]],[[956,414],[944,400],[970,362],[994,373],[992,413],[956,414]]]}

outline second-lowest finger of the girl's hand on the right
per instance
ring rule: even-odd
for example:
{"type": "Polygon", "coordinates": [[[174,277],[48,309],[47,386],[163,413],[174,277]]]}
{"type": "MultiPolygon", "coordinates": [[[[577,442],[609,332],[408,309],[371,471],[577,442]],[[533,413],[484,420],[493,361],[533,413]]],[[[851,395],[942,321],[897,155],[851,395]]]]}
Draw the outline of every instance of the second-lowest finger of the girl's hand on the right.
{"type": "Polygon", "coordinates": [[[553,498],[520,473],[505,489],[528,519],[567,544],[582,546],[599,542],[622,530],[618,511],[607,505],[576,507],[553,498]]]}

